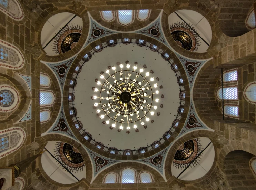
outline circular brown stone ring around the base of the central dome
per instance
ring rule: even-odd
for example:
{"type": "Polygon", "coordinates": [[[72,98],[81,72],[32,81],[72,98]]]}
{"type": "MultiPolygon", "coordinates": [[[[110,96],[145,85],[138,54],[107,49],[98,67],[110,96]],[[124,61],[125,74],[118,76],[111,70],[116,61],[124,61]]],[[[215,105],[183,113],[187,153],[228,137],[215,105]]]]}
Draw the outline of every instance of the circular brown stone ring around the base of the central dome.
{"type": "MultiPolygon", "coordinates": [[[[163,150],[167,145],[169,145],[176,136],[178,136],[179,131],[181,130],[181,128],[183,127],[183,124],[186,120],[186,116],[189,110],[189,101],[190,101],[190,89],[189,89],[189,84],[188,84],[188,79],[187,79],[187,75],[185,73],[185,70],[179,60],[179,58],[175,55],[175,53],[173,51],[171,51],[171,49],[169,49],[167,46],[165,46],[163,43],[152,39],[150,37],[144,36],[144,35],[140,35],[140,34],[127,34],[127,33],[121,33],[121,34],[112,34],[110,36],[107,37],[103,37],[100,38],[92,43],[90,43],[88,46],[86,46],[75,58],[75,60],[73,61],[70,69],[69,69],[69,73],[67,75],[67,79],[65,81],[65,86],[64,86],[64,90],[63,90],[63,106],[64,106],[64,111],[65,111],[65,115],[66,115],[66,119],[69,123],[70,128],[72,129],[73,133],[75,134],[75,136],[79,139],[79,141],[81,143],[83,143],[85,146],[89,146],[88,142],[81,136],[81,134],[78,132],[77,128],[74,125],[74,122],[72,120],[72,117],[70,116],[69,113],[69,107],[68,107],[68,94],[69,94],[69,87],[70,87],[70,81],[74,80],[72,79],[72,74],[75,72],[76,67],[78,66],[79,62],[81,61],[81,59],[92,49],[95,49],[96,46],[99,46],[100,44],[102,44],[102,42],[107,42],[110,40],[116,40],[116,39],[124,39],[124,38],[129,38],[129,39],[141,39],[144,41],[150,41],[150,43],[155,44],[158,48],[161,48],[162,50],[164,50],[165,53],[167,53],[169,55],[170,58],[172,58],[174,60],[174,62],[177,64],[178,66],[178,71],[181,74],[181,78],[183,78],[183,86],[186,92],[186,99],[185,99],[185,106],[184,106],[184,112],[181,114],[181,119],[179,122],[178,127],[176,128],[175,132],[173,133],[173,137],[169,138],[168,141],[165,142],[165,145],[160,145],[159,147],[157,147],[157,149],[155,150],[157,152],[157,150],[163,150]],[[167,143],[167,144],[166,144],[167,143]]],[[[89,54],[89,53],[88,53],[89,54]]],[[[90,59],[90,57],[87,57],[87,59],[90,59]]],[[[103,150],[99,150],[98,148],[94,147],[94,146],[90,146],[90,149],[92,151],[95,151],[99,154],[104,154],[105,157],[111,157],[113,158],[113,154],[110,154],[109,152],[105,152],[103,150]]],[[[146,153],[143,153],[144,155],[147,155],[146,153]]],[[[134,156],[134,159],[137,158],[136,155],[132,155],[132,157],[134,156]]],[[[146,157],[148,157],[149,155],[147,155],[146,157]]],[[[121,155],[122,158],[120,158],[119,156],[115,155],[115,158],[118,160],[121,159],[132,159],[132,157],[129,157],[127,155],[121,155]]]]}

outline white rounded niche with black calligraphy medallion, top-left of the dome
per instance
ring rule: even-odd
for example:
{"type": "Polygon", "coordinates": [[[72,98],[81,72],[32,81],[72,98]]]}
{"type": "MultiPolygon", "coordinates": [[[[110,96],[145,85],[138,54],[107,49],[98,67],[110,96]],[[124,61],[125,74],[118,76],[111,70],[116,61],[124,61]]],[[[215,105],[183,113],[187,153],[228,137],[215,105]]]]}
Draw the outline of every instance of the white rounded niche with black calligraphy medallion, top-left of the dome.
{"type": "Polygon", "coordinates": [[[43,50],[49,56],[68,52],[78,43],[82,28],[82,18],[73,13],[62,12],[53,15],[42,28],[41,45],[43,50]]]}

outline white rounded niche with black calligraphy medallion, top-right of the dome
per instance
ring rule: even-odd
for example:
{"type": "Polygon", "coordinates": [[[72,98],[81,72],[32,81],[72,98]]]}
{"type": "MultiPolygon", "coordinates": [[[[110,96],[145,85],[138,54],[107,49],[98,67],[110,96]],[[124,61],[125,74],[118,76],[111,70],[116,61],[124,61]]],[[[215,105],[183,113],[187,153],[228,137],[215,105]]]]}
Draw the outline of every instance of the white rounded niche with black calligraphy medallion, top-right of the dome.
{"type": "Polygon", "coordinates": [[[193,10],[178,10],[168,17],[171,36],[176,43],[192,52],[206,52],[212,38],[207,19],[193,10]]]}

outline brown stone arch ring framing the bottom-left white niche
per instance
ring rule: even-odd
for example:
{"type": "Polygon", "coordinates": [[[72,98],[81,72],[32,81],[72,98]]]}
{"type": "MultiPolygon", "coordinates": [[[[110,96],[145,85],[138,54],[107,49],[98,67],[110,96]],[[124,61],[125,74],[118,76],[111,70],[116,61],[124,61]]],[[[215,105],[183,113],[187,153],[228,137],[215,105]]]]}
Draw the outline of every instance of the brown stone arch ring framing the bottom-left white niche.
{"type": "MultiPolygon", "coordinates": [[[[46,146],[47,142],[48,141],[51,141],[51,140],[56,140],[56,141],[61,141],[61,142],[65,142],[65,143],[68,143],[70,145],[72,145],[73,147],[75,147],[79,153],[82,155],[82,158],[85,162],[85,168],[86,168],[86,177],[83,178],[82,180],[76,182],[76,183],[72,183],[72,184],[65,184],[66,187],[73,187],[73,186],[76,186],[76,185],[79,185],[79,184],[83,184],[83,183],[86,183],[86,184],[89,184],[91,179],[92,179],[92,164],[91,164],[91,161],[90,161],[90,158],[89,158],[89,155],[87,154],[86,150],[81,146],[80,143],[78,143],[77,141],[67,137],[67,136],[63,136],[61,134],[57,134],[57,133],[54,133],[54,134],[46,134],[45,136],[42,136],[43,139],[45,139],[45,144],[43,144],[43,146],[40,148],[40,151],[43,151],[43,148],[46,146]]],[[[47,174],[46,172],[44,171],[43,167],[42,167],[42,162],[41,162],[41,158],[37,158],[38,160],[38,164],[39,164],[39,170],[43,176],[43,178],[45,178],[47,181],[49,181],[50,183],[56,185],[57,187],[63,187],[63,184],[61,183],[58,183],[54,180],[52,180],[47,174]]]]}

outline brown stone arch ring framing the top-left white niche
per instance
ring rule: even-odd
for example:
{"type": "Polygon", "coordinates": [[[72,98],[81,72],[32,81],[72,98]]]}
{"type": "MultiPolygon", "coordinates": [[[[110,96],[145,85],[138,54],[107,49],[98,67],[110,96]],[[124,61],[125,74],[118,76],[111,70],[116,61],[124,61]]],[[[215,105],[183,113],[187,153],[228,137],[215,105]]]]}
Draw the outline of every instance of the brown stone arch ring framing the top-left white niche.
{"type": "MultiPolygon", "coordinates": [[[[45,25],[45,23],[47,22],[47,20],[50,17],[52,17],[53,15],[58,14],[58,13],[62,13],[62,12],[70,12],[70,13],[76,14],[77,16],[82,18],[83,28],[82,28],[81,37],[80,37],[78,43],[76,44],[76,46],[72,50],[70,50],[66,53],[63,53],[61,55],[56,55],[56,56],[47,56],[47,55],[45,55],[41,58],[42,61],[58,62],[58,61],[63,61],[65,59],[68,59],[68,58],[74,56],[75,54],[77,54],[81,50],[81,48],[83,47],[83,44],[86,41],[86,38],[87,38],[87,35],[88,35],[88,32],[89,32],[89,17],[88,17],[87,11],[83,12],[82,14],[79,14],[78,12],[73,11],[73,10],[61,9],[61,10],[53,11],[50,14],[48,14],[48,16],[46,16],[43,21],[39,21],[41,18],[38,18],[38,22],[40,23],[39,30],[38,30],[39,32],[38,32],[38,36],[37,36],[38,44],[41,44],[42,28],[45,25]]],[[[39,45],[39,47],[44,52],[43,47],[41,45],[39,45]]]]}

